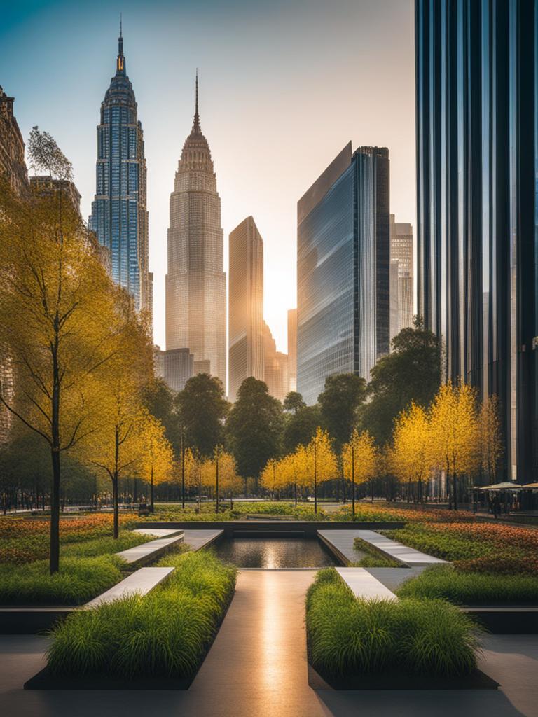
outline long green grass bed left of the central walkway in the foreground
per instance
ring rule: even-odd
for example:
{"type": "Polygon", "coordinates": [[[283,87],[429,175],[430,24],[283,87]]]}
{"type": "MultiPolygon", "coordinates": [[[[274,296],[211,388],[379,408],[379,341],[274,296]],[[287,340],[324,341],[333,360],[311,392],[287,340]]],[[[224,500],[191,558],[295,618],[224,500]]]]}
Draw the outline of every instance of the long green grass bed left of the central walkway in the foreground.
{"type": "Polygon", "coordinates": [[[202,663],[235,589],[236,569],[212,553],[166,556],[169,579],[71,614],[52,630],[49,668],[62,675],[189,677],[202,663]]]}

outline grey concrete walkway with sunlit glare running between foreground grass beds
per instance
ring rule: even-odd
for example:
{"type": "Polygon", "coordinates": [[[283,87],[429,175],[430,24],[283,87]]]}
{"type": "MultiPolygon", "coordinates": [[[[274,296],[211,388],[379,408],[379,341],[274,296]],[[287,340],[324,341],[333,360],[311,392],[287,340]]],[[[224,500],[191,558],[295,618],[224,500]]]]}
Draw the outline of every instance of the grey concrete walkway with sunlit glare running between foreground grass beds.
{"type": "MultiPolygon", "coordinates": [[[[484,638],[501,690],[316,692],[308,686],[304,593],[315,571],[240,573],[225,621],[186,692],[23,691],[47,638],[0,637],[6,717],[537,717],[538,637],[484,638]]],[[[481,664],[484,668],[484,665],[481,664]]]]}

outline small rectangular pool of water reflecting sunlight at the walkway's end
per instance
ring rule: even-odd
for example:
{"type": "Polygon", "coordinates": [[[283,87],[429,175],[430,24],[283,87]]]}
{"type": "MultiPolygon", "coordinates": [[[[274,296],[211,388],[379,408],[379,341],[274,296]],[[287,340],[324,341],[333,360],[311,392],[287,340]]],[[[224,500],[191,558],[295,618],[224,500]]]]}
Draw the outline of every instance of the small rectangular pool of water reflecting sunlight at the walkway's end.
{"type": "Polygon", "coordinates": [[[337,562],[317,538],[234,538],[215,546],[240,568],[322,568],[337,562]]]}

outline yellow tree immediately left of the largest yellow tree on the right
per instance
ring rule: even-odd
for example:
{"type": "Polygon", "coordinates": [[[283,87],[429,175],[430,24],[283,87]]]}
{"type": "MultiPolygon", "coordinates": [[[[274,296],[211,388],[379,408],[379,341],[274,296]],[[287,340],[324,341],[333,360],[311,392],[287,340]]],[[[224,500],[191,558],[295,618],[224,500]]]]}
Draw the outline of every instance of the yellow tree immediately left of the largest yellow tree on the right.
{"type": "Polygon", "coordinates": [[[423,483],[433,470],[431,429],[428,413],[412,403],[395,421],[392,438],[392,472],[399,480],[417,482],[417,496],[423,498],[423,483]]]}

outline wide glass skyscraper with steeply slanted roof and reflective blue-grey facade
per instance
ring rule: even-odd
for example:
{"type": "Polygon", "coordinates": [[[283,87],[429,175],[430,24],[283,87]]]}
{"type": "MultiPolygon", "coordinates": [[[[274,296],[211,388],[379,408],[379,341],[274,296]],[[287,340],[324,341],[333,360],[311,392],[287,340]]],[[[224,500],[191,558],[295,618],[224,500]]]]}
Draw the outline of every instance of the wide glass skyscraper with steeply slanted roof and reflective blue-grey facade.
{"type": "Polygon", "coordinates": [[[297,205],[297,390],[389,351],[389,151],[347,144],[297,205]]]}

